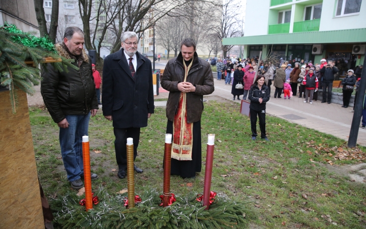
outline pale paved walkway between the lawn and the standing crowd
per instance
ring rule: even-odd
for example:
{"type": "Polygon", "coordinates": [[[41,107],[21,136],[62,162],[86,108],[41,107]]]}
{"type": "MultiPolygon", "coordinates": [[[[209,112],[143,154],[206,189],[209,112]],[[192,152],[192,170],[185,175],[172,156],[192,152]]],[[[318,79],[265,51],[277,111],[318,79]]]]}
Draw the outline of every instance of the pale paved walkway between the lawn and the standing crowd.
{"type": "MultiPolygon", "coordinates": [[[[217,74],[214,74],[214,76],[217,74]]],[[[35,87],[36,94],[28,97],[28,105],[43,105],[40,87],[35,87]]],[[[271,88],[271,97],[267,103],[267,113],[285,119],[308,128],[318,130],[323,133],[332,134],[348,141],[353,113],[349,112],[352,107],[342,108],[340,104],[327,104],[321,101],[314,101],[313,104],[303,103],[302,98],[294,96],[284,99],[273,98],[275,89],[271,88]]],[[[156,99],[167,99],[169,93],[159,93],[156,99]]],[[[240,103],[239,100],[233,101],[231,95],[231,85],[225,85],[224,80],[215,79],[215,92],[209,96],[219,96],[232,102],[240,103]]],[[[242,96],[240,96],[240,99],[242,96]]],[[[166,102],[157,101],[156,106],[165,106],[166,102]]],[[[357,144],[366,146],[366,129],[359,129],[357,144]]]]}

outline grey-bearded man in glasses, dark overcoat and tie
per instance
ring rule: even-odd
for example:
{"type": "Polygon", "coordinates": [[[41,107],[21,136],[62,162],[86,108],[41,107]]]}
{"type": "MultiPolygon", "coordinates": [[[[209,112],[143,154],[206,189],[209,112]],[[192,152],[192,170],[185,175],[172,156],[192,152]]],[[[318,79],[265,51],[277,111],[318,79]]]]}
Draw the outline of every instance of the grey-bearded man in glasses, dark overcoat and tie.
{"type": "MultiPolygon", "coordinates": [[[[134,159],[140,138],[140,128],[154,113],[153,70],[151,62],[137,51],[135,32],[121,36],[122,48],[104,60],[103,115],[113,121],[114,148],[118,164],[118,177],[126,177],[127,138],[133,138],[134,159]]],[[[137,173],[142,169],[134,166],[137,173]]]]}

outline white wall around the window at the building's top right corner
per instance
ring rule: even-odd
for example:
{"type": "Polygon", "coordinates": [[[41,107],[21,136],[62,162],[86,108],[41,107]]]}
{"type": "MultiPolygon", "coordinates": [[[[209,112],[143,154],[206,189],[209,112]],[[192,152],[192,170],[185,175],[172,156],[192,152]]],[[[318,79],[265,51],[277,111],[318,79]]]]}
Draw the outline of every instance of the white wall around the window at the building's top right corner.
{"type": "Polygon", "coordinates": [[[350,30],[366,27],[366,2],[362,1],[358,15],[334,17],[337,1],[323,0],[319,31],[350,30]]]}

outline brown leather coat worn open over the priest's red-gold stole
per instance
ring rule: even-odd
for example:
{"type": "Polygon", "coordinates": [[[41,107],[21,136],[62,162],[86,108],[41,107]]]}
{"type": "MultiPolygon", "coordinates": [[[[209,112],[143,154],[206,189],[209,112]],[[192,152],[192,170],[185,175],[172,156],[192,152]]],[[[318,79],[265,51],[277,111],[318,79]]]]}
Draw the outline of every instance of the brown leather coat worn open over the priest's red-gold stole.
{"type": "MultiPolygon", "coordinates": [[[[170,92],[166,106],[166,116],[170,121],[174,119],[181,93],[177,85],[184,81],[183,61],[182,54],[179,52],[176,58],[167,63],[161,80],[162,88],[170,92]]],[[[199,59],[196,52],[187,76],[187,82],[196,87],[195,92],[187,93],[187,122],[194,123],[201,120],[203,95],[209,95],[215,90],[211,67],[208,62],[199,59]]]]}

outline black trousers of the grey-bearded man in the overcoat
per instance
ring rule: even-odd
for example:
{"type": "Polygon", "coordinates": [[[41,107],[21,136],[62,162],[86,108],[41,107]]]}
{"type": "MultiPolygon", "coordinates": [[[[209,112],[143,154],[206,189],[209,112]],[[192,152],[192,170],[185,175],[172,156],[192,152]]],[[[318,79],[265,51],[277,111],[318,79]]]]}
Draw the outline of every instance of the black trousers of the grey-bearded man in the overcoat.
{"type": "Polygon", "coordinates": [[[127,170],[127,138],[133,138],[134,160],[137,156],[137,147],[140,139],[140,128],[114,128],[114,149],[119,170],[127,170]]]}

